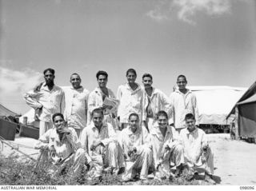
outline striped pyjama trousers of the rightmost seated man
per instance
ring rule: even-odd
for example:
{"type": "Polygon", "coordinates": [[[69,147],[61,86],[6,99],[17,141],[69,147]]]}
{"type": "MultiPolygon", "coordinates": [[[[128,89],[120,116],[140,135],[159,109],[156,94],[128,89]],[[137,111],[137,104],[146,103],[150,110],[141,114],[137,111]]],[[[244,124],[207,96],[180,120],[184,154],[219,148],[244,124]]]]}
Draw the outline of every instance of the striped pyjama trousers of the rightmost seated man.
{"type": "Polygon", "coordinates": [[[206,173],[211,175],[214,174],[214,153],[212,153],[210,147],[207,148],[206,152],[202,152],[197,162],[190,162],[186,159],[186,157],[185,161],[189,167],[192,167],[196,171],[204,169],[206,173]]]}

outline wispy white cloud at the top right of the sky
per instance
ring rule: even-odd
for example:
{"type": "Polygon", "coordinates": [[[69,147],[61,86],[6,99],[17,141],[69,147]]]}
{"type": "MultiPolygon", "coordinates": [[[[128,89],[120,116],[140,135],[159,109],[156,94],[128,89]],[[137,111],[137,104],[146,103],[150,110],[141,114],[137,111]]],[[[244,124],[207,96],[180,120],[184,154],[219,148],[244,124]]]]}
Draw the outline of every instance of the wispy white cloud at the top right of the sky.
{"type": "Polygon", "coordinates": [[[161,1],[146,13],[146,16],[157,22],[170,19],[171,15],[177,15],[178,19],[195,25],[192,17],[198,12],[204,12],[210,16],[230,14],[231,0],[168,0],[161,1]]]}

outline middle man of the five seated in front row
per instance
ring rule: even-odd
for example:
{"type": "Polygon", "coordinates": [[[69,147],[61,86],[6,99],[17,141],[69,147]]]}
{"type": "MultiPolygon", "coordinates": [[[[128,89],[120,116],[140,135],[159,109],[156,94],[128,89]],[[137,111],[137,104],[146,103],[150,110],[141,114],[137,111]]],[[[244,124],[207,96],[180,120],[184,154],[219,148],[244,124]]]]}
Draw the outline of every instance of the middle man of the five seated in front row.
{"type": "Polygon", "coordinates": [[[140,179],[144,181],[153,162],[149,133],[146,127],[139,125],[137,113],[131,113],[128,121],[127,128],[122,129],[118,136],[126,159],[126,173],[122,176],[122,181],[132,180],[140,170],[140,179]]]}

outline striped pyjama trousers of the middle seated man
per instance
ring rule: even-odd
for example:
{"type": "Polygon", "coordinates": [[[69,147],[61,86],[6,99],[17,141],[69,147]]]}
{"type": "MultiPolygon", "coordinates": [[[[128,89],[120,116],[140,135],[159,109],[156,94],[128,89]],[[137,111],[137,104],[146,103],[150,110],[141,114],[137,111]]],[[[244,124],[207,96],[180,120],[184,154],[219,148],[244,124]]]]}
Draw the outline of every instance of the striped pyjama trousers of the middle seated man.
{"type": "Polygon", "coordinates": [[[122,175],[122,179],[134,178],[139,170],[141,170],[140,179],[146,179],[149,168],[153,165],[152,149],[142,146],[137,150],[136,155],[135,161],[126,161],[126,172],[122,175]]]}

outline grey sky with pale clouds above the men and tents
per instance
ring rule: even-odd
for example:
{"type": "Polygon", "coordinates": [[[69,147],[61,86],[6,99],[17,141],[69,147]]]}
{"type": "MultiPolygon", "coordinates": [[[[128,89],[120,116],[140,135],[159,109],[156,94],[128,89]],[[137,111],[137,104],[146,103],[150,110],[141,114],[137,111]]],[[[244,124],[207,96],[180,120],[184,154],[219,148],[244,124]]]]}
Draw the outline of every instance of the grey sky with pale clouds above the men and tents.
{"type": "Polygon", "coordinates": [[[255,53],[254,0],[0,0],[0,103],[17,113],[48,67],[57,86],[78,73],[90,91],[106,70],[114,93],[134,68],[169,96],[179,74],[248,88],[255,53]]]}

